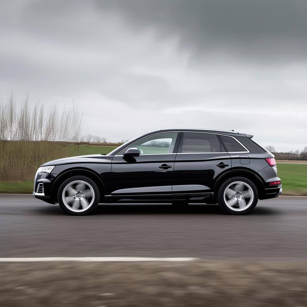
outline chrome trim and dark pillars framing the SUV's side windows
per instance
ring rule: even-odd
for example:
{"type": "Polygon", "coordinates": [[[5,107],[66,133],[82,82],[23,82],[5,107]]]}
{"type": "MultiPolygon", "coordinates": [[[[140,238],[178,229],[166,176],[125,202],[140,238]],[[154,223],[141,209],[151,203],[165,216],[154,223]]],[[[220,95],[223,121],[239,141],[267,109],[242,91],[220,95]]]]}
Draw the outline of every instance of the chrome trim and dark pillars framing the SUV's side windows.
{"type": "MultiPolygon", "coordinates": [[[[239,140],[237,140],[237,139],[236,139],[234,136],[232,136],[232,135],[221,134],[221,133],[212,133],[212,132],[202,132],[202,131],[167,131],[167,132],[166,132],[166,131],[161,131],[161,132],[149,134],[149,135],[146,135],[146,136],[144,136],[144,137],[142,137],[142,138],[139,138],[139,139],[135,140],[133,143],[127,145],[126,147],[124,147],[123,149],[121,149],[119,152],[121,152],[122,150],[126,149],[126,148],[129,147],[130,145],[133,145],[135,142],[138,142],[138,141],[142,140],[143,138],[147,138],[148,136],[155,135],[155,134],[169,133],[169,132],[177,132],[177,133],[178,133],[176,142],[178,141],[178,138],[181,139],[181,136],[183,136],[183,134],[184,134],[185,132],[206,133],[206,134],[215,134],[215,135],[228,136],[228,137],[230,137],[230,138],[234,138],[243,148],[246,149],[246,151],[223,151],[223,152],[216,152],[216,153],[250,153],[250,151],[249,151],[239,140]]],[[[218,137],[218,139],[220,140],[219,137],[218,137]]],[[[180,140],[179,140],[179,142],[180,142],[180,140]]],[[[220,140],[220,142],[221,142],[221,140],[220,140]]],[[[221,143],[222,143],[222,142],[221,142],[221,143]]],[[[222,145],[223,145],[223,143],[222,143],[222,145]]],[[[176,152],[175,152],[175,153],[174,153],[174,152],[173,152],[173,153],[152,153],[152,154],[142,154],[142,156],[152,156],[152,155],[161,155],[161,154],[164,154],[164,155],[165,155],[165,154],[196,154],[196,153],[178,153],[179,146],[180,146],[180,144],[178,144],[178,146],[177,146],[177,153],[176,153],[176,152]]],[[[223,147],[225,147],[225,146],[223,145],[223,147]]],[[[176,149],[176,143],[175,143],[174,150],[175,150],[175,149],[176,149]]],[[[226,150],[226,149],[225,149],[225,150],[226,150]]],[[[212,153],[212,152],[204,152],[204,153],[212,153]]],[[[117,154],[115,154],[115,156],[123,157],[124,155],[120,155],[120,154],[117,153],[117,154]]]]}

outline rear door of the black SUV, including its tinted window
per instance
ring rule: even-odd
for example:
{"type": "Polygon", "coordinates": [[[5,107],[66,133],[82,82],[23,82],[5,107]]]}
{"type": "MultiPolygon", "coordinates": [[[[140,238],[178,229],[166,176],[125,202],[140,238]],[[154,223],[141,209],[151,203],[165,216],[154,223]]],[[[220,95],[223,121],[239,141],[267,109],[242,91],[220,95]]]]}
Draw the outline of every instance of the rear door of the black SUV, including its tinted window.
{"type": "Polygon", "coordinates": [[[174,165],[174,200],[203,202],[217,177],[231,169],[231,157],[216,134],[182,132],[174,165]]]}

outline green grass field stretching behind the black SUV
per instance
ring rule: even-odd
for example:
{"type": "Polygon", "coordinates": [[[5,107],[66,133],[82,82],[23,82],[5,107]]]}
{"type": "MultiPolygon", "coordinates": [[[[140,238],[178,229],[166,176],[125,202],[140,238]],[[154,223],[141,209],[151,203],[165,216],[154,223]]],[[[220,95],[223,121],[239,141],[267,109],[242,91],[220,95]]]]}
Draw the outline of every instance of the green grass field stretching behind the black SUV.
{"type": "MultiPolygon", "coordinates": [[[[109,153],[116,147],[72,145],[68,156],[109,153]]],[[[146,150],[146,148],[144,148],[146,150]]],[[[307,195],[307,163],[277,163],[283,195],[307,195]]],[[[32,193],[33,181],[0,182],[0,193],[32,193]]]]}

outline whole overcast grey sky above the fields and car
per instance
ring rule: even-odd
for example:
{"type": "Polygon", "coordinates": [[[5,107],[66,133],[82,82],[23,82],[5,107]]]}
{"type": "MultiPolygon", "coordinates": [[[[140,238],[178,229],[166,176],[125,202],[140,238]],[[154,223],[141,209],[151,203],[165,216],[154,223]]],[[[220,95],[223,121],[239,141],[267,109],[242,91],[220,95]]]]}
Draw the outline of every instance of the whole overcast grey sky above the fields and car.
{"type": "Polygon", "coordinates": [[[306,16],[306,0],[0,0],[2,99],[73,99],[110,142],[195,127],[302,150],[306,16]]]}

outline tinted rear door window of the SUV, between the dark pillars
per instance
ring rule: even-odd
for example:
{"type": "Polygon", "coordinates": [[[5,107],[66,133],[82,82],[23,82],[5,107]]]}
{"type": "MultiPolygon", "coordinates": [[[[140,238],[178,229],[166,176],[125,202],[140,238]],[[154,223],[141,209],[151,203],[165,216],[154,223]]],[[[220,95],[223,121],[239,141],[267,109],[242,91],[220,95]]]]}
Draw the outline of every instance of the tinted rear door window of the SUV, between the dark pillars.
{"type": "Polygon", "coordinates": [[[215,134],[184,132],[181,145],[182,153],[225,152],[215,134]]]}

